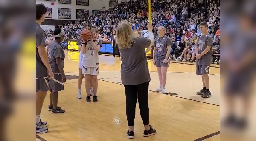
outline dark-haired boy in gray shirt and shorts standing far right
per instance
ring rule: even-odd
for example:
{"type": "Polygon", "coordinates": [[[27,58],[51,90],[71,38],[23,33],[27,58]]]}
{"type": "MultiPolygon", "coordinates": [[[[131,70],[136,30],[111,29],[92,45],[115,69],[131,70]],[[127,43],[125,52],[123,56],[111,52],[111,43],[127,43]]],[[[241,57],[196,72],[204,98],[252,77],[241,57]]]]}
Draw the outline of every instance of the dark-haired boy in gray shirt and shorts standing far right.
{"type": "Polygon", "coordinates": [[[207,23],[200,23],[200,29],[203,33],[198,38],[195,47],[196,53],[196,74],[202,76],[203,89],[197,92],[198,95],[202,95],[203,98],[211,96],[209,90],[209,69],[212,62],[212,37],[208,34],[207,23]]]}

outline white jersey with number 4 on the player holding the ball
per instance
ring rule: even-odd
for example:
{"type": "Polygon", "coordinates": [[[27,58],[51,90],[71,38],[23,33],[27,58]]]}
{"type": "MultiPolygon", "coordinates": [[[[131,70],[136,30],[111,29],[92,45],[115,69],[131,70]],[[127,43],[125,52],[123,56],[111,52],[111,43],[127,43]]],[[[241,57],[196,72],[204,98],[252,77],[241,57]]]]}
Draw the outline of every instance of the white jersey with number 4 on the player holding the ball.
{"type": "MultiPolygon", "coordinates": [[[[99,67],[99,54],[92,42],[92,40],[89,40],[86,44],[86,52],[83,55],[82,61],[82,65],[85,67],[99,67]]],[[[94,42],[96,45],[102,46],[101,40],[96,39],[94,42]]]]}

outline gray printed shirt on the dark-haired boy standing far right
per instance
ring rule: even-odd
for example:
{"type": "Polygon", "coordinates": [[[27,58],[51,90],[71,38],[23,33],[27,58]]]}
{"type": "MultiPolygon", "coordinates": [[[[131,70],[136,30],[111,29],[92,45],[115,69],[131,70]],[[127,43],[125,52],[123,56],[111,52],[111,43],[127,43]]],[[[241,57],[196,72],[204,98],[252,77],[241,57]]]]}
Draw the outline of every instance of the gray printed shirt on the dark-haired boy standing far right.
{"type": "Polygon", "coordinates": [[[196,42],[196,47],[198,48],[198,54],[201,54],[207,46],[211,49],[206,54],[201,56],[201,58],[196,60],[196,65],[207,65],[209,66],[212,62],[212,37],[207,35],[202,35],[198,38],[196,42]]]}

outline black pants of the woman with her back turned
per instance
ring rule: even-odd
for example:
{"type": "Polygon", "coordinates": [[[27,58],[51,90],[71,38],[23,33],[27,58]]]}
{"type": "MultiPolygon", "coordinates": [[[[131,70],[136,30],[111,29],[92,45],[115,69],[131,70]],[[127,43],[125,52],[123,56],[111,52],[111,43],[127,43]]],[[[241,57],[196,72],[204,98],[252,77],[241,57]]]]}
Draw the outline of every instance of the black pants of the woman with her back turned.
{"type": "Polygon", "coordinates": [[[124,85],[126,96],[126,116],[128,126],[134,126],[137,92],[140,107],[140,116],[142,118],[144,125],[149,124],[148,85],[149,82],[145,82],[139,85],[124,85]]]}

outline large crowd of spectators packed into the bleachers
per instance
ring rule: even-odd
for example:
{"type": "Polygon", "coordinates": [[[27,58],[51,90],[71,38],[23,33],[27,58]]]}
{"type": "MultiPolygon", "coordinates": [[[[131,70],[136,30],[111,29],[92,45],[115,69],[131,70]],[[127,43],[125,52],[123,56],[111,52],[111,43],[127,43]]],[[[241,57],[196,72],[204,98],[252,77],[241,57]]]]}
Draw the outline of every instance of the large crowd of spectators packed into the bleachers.
{"type": "MultiPolygon", "coordinates": [[[[116,29],[122,20],[128,20],[134,31],[147,30],[148,0],[122,2],[117,7],[99,11],[81,22],[68,24],[62,28],[66,39],[77,39],[83,25],[90,23],[92,28],[99,30],[100,39],[111,41],[112,30],[116,29]]],[[[156,37],[157,27],[164,26],[166,36],[174,37],[177,41],[177,46],[172,47],[172,54],[176,60],[184,57],[183,61],[187,61],[186,56],[179,56],[184,49],[179,42],[186,42],[189,39],[189,43],[194,45],[202,34],[199,24],[203,21],[208,23],[215,53],[220,52],[220,0],[151,0],[151,21],[155,27],[153,33],[156,37]],[[175,48],[178,49],[175,51],[175,48]]]]}

